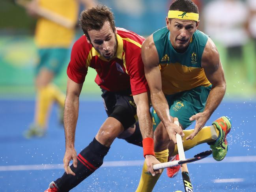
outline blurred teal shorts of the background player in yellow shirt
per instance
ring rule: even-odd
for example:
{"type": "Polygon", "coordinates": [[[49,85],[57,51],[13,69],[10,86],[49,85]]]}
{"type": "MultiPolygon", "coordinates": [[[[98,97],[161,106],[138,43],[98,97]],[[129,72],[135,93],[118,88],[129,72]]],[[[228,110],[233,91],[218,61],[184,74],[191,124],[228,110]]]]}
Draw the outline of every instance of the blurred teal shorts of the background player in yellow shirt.
{"type": "Polygon", "coordinates": [[[69,55],[68,48],[40,48],[38,50],[39,63],[36,66],[36,74],[41,68],[47,68],[57,75],[63,66],[65,66],[67,56],[69,55]]]}

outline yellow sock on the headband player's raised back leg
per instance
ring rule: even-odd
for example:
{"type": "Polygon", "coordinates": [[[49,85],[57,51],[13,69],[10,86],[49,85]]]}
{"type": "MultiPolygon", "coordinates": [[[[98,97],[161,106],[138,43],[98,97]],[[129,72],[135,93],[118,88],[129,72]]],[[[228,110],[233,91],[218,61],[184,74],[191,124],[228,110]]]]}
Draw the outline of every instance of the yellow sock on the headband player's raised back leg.
{"type": "MultiPolygon", "coordinates": [[[[186,140],[186,137],[189,136],[194,129],[184,130],[185,136],[183,137],[183,147],[184,151],[191,149],[192,147],[202,144],[202,143],[210,143],[214,142],[219,136],[219,130],[215,128],[215,126],[211,125],[209,127],[203,127],[198,134],[191,140],[186,140]]],[[[175,145],[175,149],[171,156],[178,154],[177,145],[175,145]]]]}

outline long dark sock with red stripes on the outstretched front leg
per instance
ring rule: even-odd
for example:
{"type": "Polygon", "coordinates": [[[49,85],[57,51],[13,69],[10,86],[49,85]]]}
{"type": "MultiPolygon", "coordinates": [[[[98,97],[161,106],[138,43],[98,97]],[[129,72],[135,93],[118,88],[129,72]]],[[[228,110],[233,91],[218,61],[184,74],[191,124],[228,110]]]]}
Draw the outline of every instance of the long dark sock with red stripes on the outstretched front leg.
{"type": "Polygon", "coordinates": [[[60,192],[67,192],[81,183],[86,177],[91,175],[97,168],[103,164],[103,158],[107,155],[110,147],[100,144],[95,138],[77,155],[77,168],[73,164],[71,170],[76,174],[67,175],[64,173],[62,177],[54,181],[60,192]]]}

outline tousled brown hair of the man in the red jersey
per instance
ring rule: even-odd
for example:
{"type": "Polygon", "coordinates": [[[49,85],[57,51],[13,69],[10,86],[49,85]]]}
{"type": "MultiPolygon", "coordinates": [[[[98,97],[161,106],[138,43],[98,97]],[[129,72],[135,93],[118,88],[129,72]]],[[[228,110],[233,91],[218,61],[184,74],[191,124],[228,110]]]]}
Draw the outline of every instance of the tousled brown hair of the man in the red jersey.
{"type": "Polygon", "coordinates": [[[79,19],[80,26],[89,40],[88,31],[100,30],[106,21],[109,21],[113,32],[115,32],[114,14],[110,11],[110,8],[103,5],[82,11],[79,19]]]}

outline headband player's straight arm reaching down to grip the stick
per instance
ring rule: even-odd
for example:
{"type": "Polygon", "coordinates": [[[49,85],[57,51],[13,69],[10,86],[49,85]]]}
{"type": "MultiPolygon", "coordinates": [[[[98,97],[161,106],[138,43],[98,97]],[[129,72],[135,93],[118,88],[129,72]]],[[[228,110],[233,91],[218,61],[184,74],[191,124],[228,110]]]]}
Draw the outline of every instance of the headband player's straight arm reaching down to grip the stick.
{"type": "Polygon", "coordinates": [[[183,132],[177,125],[172,123],[169,106],[162,91],[162,79],[159,69],[159,58],[157,49],[153,42],[153,35],[149,36],[142,44],[142,60],[146,79],[150,89],[151,103],[166,128],[170,139],[176,143],[176,131],[183,136],[183,132]],[[176,129],[175,129],[176,127],[176,129]]]}

